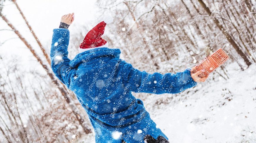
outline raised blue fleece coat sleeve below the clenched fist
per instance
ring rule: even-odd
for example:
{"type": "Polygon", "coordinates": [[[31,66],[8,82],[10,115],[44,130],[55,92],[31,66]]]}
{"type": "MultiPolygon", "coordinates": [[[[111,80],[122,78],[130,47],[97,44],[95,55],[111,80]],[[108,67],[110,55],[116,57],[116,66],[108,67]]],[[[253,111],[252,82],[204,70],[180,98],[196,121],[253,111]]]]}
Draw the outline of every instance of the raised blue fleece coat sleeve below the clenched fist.
{"type": "Polygon", "coordinates": [[[69,65],[68,45],[69,30],[64,28],[54,29],[50,54],[51,68],[56,77],[69,88],[70,78],[75,73],[75,69],[69,65]]]}

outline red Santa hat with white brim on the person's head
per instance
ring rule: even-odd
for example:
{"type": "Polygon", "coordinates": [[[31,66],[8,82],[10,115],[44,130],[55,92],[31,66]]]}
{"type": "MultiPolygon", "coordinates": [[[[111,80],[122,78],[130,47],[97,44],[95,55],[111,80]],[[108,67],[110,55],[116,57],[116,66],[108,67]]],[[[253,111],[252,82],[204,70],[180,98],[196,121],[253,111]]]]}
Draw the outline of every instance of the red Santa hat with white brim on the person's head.
{"type": "Polygon", "coordinates": [[[102,39],[102,35],[104,34],[105,26],[107,23],[104,21],[97,24],[95,27],[90,30],[87,35],[84,37],[83,42],[79,46],[79,51],[87,51],[90,48],[99,48],[99,47],[108,47],[108,43],[106,40],[102,39]]]}

